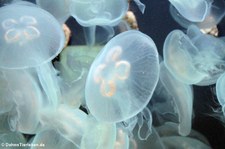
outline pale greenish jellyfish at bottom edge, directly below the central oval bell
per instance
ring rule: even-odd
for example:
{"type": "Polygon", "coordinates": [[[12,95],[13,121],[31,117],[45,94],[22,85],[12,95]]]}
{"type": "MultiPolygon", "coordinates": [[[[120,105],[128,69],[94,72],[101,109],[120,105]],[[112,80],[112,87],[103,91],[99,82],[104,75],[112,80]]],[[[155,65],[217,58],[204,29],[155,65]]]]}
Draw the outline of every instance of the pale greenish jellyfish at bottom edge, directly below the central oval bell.
{"type": "Polygon", "coordinates": [[[97,121],[88,116],[80,149],[114,149],[116,142],[116,124],[97,121]]]}

